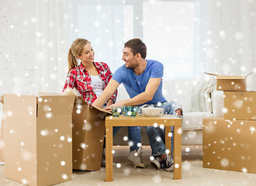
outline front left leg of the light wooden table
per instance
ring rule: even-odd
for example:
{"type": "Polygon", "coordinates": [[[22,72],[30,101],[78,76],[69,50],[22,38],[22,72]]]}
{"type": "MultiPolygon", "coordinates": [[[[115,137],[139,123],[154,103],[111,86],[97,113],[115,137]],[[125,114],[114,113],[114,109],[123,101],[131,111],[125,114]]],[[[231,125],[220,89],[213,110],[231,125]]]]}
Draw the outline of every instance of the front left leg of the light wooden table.
{"type": "Polygon", "coordinates": [[[112,136],[112,126],[106,126],[106,181],[113,181],[112,136]]]}

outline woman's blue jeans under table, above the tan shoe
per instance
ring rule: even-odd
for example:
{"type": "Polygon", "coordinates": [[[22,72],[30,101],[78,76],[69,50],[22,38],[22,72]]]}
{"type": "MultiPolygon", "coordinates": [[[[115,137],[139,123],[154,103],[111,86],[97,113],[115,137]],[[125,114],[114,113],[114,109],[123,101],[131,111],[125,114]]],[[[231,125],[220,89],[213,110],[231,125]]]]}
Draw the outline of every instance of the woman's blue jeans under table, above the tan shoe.
{"type": "MultiPolygon", "coordinates": [[[[129,117],[129,116],[126,116],[129,117]]],[[[113,136],[118,133],[119,129],[122,126],[114,126],[113,127],[113,136]]],[[[130,144],[130,151],[137,150],[139,148],[138,143],[140,143],[140,126],[128,126],[128,138],[130,144]]],[[[103,148],[106,147],[105,140],[103,144],[103,148]]]]}

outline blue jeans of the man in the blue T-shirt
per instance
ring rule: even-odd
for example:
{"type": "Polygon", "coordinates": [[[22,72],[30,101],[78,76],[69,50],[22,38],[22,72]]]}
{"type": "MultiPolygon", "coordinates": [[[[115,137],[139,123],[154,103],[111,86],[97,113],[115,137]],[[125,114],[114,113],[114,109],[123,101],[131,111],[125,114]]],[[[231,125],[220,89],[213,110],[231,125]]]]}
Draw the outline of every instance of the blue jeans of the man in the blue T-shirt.
{"type": "MultiPolygon", "coordinates": [[[[154,105],[157,108],[164,108],[165,115],[175,115],[175,110],[182,108],[177,102],[164,102],[161,105],[154,105]]],[[[171,126],[171,134],[173,134],[173,127],[171,126]]],[[[164,144],[164,129],[159,126],[147,126],[147,136],[150,141],[152,156],[160,156],[166,153],[166,146],[164,144]]],[[[171,136],[171,154],[173,152],[173,135],[171,136]]]]}

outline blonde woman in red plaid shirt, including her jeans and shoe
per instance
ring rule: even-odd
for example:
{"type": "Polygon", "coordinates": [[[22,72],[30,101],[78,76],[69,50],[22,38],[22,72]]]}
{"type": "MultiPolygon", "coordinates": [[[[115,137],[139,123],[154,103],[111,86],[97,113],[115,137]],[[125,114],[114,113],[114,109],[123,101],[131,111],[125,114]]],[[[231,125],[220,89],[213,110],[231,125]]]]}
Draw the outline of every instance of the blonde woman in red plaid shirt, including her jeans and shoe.
{"type": "MultiPolygon", "coordinates": [[[[68,53],[69,73],[67,74],[66,83],[63,88],[63,91],[67,86],[76,88],[88,105],[92,105],[95,102],[96,98],[102,94],[102,91],[112,78],[109,66],[103,62],[95,62],[94,55],[95,52],[88,40],[79,38],[72,43],[68,53]],[[81,64],[78,64],[78,60],[81,60],[81,64]]],[[[116,102],[116,95],[117,90],[106,102],[106,106],[116,102]]],[[[113,136],[119,129],[120,127],[114,127],[113,136]]],[[[137,167],[145,167],[141,160],[141,147],[137,145],[140,143],[140,128],[130,126],[128,127],[128,134],[131,144],[129,160],[137,167]]],[[[105,148],[105,143],[103,147],[105,148]]],[[[103,157],[105,157],[105,150],[103,150],[103,157]]],[[[104,159],[102,158],[103,161],[104,159]]]]}

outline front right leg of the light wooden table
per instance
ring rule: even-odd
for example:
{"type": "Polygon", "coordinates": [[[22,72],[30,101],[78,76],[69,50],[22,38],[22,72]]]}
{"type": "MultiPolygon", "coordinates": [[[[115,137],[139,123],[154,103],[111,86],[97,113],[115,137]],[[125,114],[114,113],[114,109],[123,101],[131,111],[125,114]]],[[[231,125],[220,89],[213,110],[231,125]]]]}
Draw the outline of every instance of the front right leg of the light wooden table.
{"type": "Polygon", "coordinates": [[[174,179],[182,179],[182,133],[180,126],[173,126],[174,130],[174,179]]]}

